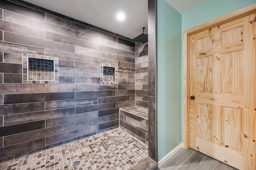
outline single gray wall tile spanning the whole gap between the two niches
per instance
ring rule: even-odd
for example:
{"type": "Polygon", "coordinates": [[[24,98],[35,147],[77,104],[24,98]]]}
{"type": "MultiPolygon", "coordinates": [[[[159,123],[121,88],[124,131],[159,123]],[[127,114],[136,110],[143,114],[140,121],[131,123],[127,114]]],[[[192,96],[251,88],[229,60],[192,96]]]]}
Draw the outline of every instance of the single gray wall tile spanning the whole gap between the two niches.
{"type": "Polygon", "coordinates": [[[58,69],[59,76],[86,76],[86,77],[97,77],[97,70],[83,70],[75,68],[62,68],[58,69]]]}

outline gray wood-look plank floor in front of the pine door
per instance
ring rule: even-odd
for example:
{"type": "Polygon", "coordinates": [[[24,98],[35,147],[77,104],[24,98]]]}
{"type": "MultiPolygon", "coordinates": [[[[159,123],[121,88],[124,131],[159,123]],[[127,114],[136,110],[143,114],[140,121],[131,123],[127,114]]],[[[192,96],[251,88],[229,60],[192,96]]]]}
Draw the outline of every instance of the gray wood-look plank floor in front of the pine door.
{"type": "Polygon", "coordinates": [[[160,170],[237,170],[194,149],[180,149],[160,170]]]}

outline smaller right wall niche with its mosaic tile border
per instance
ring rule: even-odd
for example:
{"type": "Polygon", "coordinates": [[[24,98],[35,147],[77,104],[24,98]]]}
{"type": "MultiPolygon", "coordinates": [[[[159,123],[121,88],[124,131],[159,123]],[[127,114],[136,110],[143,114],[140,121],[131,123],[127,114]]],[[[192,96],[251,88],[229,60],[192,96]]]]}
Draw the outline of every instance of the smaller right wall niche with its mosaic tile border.
{"type": "Polygon", "coordinates": [[[100,84],[118,84],[116,68],[114,64],[100,64],[100,84]]]}

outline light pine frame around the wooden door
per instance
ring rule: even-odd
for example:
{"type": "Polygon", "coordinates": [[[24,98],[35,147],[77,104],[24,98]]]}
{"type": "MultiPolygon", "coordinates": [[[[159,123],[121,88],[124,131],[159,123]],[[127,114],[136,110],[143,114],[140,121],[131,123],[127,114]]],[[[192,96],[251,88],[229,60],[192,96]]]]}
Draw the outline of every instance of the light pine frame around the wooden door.
{"type": "Polygon", "coordinates": [[[190,79],[188,75],[189,73],[189,37],[190,35],[193,35],[195,33],[198,33],[200,31],[203,31],[205,29],[210,29],[211,27],[236,20],[238,18],[247,16],[249,14],[256,12],[256,3],[252,4],[250,6],[247,6],[245,8],[242,8],[240,10],[237,10],[235,12],[232,12],[230,14],[224,15],[220,18],[217,18],[215,20],[206,22],[202,25],[199,25],[197,27],[194,27],[192,29],[189,29],[187,31],[184,31],[184,39],[183,39],[183,47],[184,47],[184,54],[183,54],[183,148],[189,149],[190,148],[190,131],[189,131],[189,125],[190,125],[190,114],[189,114],[189,82],[190,79]]]}

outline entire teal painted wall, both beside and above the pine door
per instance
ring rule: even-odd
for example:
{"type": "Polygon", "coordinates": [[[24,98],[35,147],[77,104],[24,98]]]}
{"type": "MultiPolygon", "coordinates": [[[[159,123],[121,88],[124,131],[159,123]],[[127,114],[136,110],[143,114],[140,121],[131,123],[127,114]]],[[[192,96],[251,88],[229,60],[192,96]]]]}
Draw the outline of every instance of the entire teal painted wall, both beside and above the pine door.
{"type": "Polygon", "coordinates": [[[158,160],[183,142],[183,31],[254,3],[256,0],[210,0],[181,16],[165,0],[158,0],[158,160]]]}

